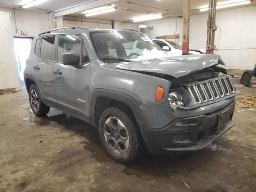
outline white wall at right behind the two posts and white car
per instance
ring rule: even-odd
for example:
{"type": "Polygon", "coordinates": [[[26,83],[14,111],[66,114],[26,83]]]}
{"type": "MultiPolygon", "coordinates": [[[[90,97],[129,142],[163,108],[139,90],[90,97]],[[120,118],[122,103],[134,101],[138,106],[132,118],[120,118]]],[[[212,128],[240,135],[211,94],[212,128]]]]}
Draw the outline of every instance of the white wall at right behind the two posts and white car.
{"type": "MultiPolygon", "coordinates": [[[[206,48],[208,14],[190,17],[190,48],[206,48]]],[[[216,12],[216,25],[221,28],[219,54],[228,69],[252,70],[256,63],[256,6],[237,8],[216,12]]],[[[182,44],[182,18],[177,18],[177,32],[182,44]]],[[[175,18],[151,21],[146,23],[154,29],[148,31],[150,38],[174,34],[175,18]]],[[[219,29],[216,32],[215,44],[218,45],[219,29]]]]}

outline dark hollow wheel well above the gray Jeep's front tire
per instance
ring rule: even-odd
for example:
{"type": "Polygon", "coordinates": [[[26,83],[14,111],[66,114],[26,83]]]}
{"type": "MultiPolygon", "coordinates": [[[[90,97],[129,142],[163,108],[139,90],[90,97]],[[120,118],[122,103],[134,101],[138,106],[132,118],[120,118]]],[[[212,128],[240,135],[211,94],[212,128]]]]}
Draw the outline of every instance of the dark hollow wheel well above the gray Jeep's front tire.
{"type": "Polygon", "coordinates": [[[130,106],[128,106],[126,103],[115,100],[115,99],[110,99],[107,97],[98,97],[96,100],[96,105],[95,105],[95,124],[96,124],[96,126],[99,126],[100,116],[101,116],[102,112],[106,108],[109,108],[109,107],[116,107],[121,110],[124,110],[124,112],[126,112],[126,114],[130,118],[133,118],[136,122],[136,118],[134,116],[134,113],[132,112],[132,108],[130,106]]]}

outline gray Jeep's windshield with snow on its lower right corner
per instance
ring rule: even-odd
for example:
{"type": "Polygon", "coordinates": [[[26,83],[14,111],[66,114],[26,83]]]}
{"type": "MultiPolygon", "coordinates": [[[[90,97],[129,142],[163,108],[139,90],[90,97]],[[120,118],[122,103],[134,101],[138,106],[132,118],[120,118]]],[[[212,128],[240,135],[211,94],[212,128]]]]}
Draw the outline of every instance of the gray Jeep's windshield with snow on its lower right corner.
{"type": "Polygon", "coordinates": [[[126,60],[164,58],[166,53],[148,36],[138,32],[95,31],[90,33],[100,60],[113,63],[126,60]]]}

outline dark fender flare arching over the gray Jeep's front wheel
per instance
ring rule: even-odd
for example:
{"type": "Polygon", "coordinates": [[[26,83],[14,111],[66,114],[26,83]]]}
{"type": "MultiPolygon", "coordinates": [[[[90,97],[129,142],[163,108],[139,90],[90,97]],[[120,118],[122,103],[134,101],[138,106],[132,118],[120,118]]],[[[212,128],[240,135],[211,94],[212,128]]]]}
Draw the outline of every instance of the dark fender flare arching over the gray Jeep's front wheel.
{"type": "MultiPolygon", "coordinates": [[[[145,121],[144,121],[144,118],[142,116],[140,105],[138,104],[138,102],[134,98],[132,98],[131,96],[129,96],[127,94],[121,93],[121,92],[116,92],[116,91],[113,91],[113,90],[101,89],[101,88],[94,89],[92,94],[91,94],[90,122],[91,122],[92,125],[96,126],[95,107],[96,107],[96,100],[99,97],[106,97],[106,98],[109,98],[109,99],[118,100],[118,101],[123,102],[123,103],[127,104],[128,106],[130,106],[130,108],[132,109],[132,112],[134,113],[135,119],[138,123],[138,126],[139,126],[140,130],[142,128],[144,128],[145,121]]],[[[139,102],[142,103],[142,101],[139,101],[139,102]]]]}

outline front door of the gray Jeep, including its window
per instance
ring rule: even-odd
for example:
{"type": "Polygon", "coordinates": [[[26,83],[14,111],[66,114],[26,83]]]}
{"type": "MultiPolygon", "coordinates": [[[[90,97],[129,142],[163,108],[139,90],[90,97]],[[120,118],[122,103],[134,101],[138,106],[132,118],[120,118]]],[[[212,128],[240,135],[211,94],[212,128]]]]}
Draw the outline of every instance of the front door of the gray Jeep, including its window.
{"type": "Polygon", "coordinates": [[[57,42],[57,62],[53,66],[53,82],[58,108],[88,121],[90,60],[83,38],[80,35],[60,35],[57,42]],[[78,53],[82,67],[62,64],[62,53],[78,53]]]}

